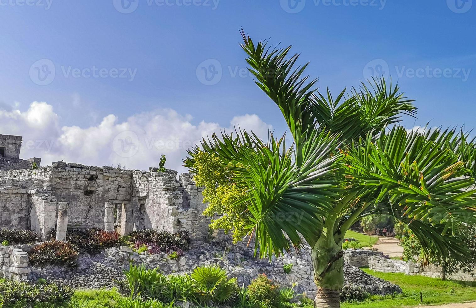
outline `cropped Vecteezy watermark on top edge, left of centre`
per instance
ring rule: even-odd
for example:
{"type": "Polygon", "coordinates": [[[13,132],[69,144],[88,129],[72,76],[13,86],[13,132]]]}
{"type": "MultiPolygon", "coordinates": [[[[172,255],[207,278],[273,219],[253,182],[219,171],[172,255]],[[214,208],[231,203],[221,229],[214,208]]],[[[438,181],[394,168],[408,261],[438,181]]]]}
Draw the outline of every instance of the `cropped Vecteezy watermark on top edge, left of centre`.
{"type": "MultiPolygon", "coordinates": [[[[212,10],[218,8],[220,0],[145,0],[149,7],[151,6],[201,6],[210,7],[212,10]]],[[[139,7],[139,0],[112,0],[114,8],[123,14],[132,13],[139,7]]]]}

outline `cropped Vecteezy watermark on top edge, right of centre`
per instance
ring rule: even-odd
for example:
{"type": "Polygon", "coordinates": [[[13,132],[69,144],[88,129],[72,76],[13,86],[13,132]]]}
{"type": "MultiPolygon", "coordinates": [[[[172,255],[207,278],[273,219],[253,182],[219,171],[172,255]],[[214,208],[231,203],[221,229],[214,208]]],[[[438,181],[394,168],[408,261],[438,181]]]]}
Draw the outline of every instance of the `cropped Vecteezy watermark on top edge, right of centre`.
{"type": "MultiPolygon", "coordinates": [[[[313,0],[314,6],[364,6],[377,7],[383,10],[387,0],[313,0]]],[[[295,14],[304,10],[306,0],[279,0],[281,8],[288,13],[295,14]]]]}

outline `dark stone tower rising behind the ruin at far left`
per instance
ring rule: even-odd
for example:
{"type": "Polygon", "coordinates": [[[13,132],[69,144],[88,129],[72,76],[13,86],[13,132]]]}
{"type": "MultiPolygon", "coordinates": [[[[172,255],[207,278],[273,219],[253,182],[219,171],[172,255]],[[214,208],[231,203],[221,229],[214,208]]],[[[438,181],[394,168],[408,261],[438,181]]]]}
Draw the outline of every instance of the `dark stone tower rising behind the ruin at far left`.
{"type": "Polygon", "coordinates": [[[20,159],[21,139],[21,136],[0,134],[0,171],[40,166],[40,158],[20,159]]]}

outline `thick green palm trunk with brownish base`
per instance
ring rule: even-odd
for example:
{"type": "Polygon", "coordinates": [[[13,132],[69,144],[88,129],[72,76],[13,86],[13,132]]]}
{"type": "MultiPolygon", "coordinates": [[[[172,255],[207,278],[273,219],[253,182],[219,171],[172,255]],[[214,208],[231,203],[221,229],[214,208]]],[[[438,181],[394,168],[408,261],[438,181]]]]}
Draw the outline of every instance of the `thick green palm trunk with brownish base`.
{"type": "Polygon", "coordinates": [[[339,308],[344,284],[344,258],[341,245],[333,238],[320,238],[311,252],[314,282],[317,286],[315,307],[339,308]]]}

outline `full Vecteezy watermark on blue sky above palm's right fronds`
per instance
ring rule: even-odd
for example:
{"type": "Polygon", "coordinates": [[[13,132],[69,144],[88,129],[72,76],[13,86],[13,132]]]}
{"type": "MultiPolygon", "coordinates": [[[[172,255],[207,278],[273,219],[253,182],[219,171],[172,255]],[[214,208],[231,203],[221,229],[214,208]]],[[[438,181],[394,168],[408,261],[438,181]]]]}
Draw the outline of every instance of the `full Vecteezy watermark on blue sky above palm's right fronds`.
{"type": "MultiPolygon", "coordinates": [[[[398,78],[456,78],[466,82],[471,73],[471,68],[449,68],[449,67],[432,67],[426,65],[424,67],[407,67],[396,65],[395,73],[398,78]]],[[[388,79],[391,75],[387,61],[376,59],[368,62],[363,71],[365,80],[372,78],[388,79]]]]}

